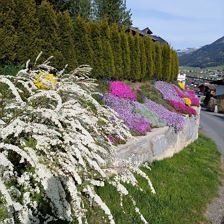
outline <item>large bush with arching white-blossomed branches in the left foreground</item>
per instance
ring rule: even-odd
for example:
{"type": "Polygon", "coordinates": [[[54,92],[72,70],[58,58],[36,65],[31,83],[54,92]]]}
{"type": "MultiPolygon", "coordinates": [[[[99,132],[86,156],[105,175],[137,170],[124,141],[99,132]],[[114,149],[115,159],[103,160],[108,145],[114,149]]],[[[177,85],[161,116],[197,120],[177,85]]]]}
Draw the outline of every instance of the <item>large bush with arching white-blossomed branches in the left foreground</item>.
{"type": "MultiPolygon", "coordinates": [[[[121,198],[128,196],[122,183],[137,187],[134,173],[155,193],[137,166],[124,163],[120,172],[111,166],[116,146],[108,136],[125,142],[131,133],[94,99],[99,93],[90,72],[80,66],[63,74],[45,61],[33,69],[27,63],[15,77],[0,76],[0,209],[7,209],[1,223],[88,223],[91,206],[102,210],[105,223],[115,223],[94,187],[109,182],[121,198]],[[37,75],[52,71],[57,84],[38,89],[37,75]]],[[[137,207],[136,215],[147,223],[137,207]]]]}

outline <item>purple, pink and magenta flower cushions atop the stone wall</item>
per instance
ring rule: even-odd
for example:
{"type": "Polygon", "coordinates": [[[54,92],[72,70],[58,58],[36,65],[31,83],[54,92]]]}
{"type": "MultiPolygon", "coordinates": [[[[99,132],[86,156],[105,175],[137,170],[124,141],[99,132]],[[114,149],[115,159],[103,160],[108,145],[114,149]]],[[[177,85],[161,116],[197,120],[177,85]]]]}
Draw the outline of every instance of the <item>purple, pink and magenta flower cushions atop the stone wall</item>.
{"type": "MultiPolygon", "coordinates": [[[[191,100],[177,86],[159,81],[155,87],[176,111],[190,116],[196,115],[196,111],[187,106],[191,100]]],[[[143,104],[137,102],[131,88],[121,81],[110,82],[110,92],[104,95],[104,103],[115,110],[125,124],[138,134],[146,134],[151,127],[168,125],[178,131],[184,126],[184,117],[181,114],[171,112],[147,98],[143,104]]]]}

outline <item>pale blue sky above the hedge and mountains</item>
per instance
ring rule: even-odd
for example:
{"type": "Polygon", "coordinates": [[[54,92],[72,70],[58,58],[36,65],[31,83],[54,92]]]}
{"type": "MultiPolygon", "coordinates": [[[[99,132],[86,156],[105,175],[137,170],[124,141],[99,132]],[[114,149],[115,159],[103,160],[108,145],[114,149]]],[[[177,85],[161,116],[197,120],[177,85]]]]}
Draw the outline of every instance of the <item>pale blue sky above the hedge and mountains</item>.
{"type": "Polygon", "coordinates": [[[126,0],[133,26],[149,27],[174,49],[201,47],[224,36],[224,0],[126,0]]]}

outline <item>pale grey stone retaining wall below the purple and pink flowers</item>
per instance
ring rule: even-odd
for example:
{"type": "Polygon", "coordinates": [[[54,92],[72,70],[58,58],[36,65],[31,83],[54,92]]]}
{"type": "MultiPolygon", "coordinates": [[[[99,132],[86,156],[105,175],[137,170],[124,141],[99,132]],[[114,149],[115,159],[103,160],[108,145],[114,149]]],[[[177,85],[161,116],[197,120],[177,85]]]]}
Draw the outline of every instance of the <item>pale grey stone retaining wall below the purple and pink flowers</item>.
{"type": "Polygon", "coordinates": [[[186,116],[182,131],[175,132],[172,127],[155,128],[146,136],[135,137],[120,145],[116,152],[115,166],[121,167],[127,160],[140,165],[146,161],[172,157],[180,152],[198,138],[200,108],[195,109],[198,111],[198,116],[186,116]]]}

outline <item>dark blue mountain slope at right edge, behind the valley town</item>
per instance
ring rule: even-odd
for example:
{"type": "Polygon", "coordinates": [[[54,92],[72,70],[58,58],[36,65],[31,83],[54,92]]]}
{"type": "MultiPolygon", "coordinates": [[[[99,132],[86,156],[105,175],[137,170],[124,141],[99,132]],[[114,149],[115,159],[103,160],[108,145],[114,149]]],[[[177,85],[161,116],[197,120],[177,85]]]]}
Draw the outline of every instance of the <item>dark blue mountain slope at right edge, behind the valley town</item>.
{"type": "Polygon", "coordinates": [[[179,54],[180,65],[192,67],[212,67],[224,65],[224,36],[212,44],[195,51],[179,54]]]}

